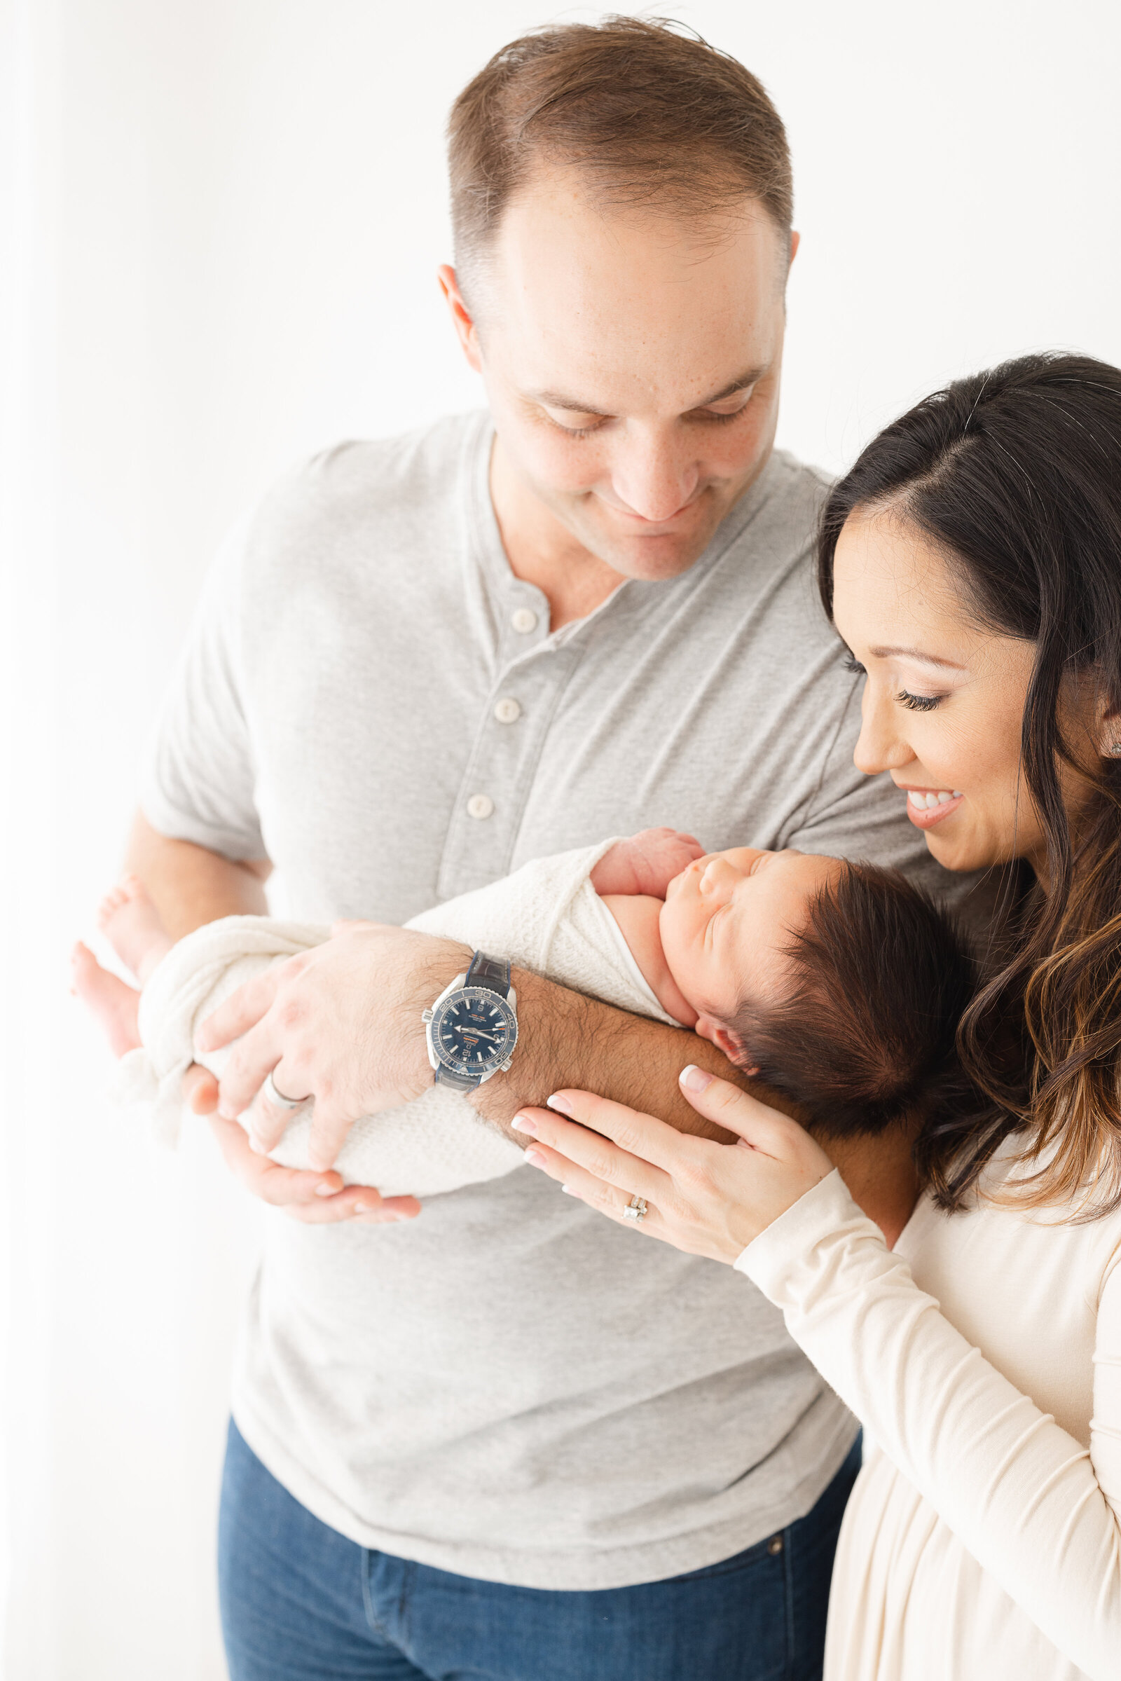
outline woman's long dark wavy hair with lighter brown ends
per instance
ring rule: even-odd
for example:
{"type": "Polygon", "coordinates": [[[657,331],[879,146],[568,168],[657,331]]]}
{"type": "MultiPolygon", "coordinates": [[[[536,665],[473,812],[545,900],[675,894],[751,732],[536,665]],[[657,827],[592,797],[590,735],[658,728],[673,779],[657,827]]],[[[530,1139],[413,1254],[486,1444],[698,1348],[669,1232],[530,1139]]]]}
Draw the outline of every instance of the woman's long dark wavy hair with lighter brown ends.
{"type": "Polygon", "coordinates": [[[1020,1131],[1032,1172],[1018,1205],[1082,1199],[1094,1217],[1121,1205],[1121,760],[1087,760],[1064,713],[1076,682],[1121,706],[1121,370],[1022,356],[881,432],[824,511],[830,617],[845,519],[887,506],[946,553],[980,624],[1035,646],[1022,775],[1047,842],[1045,886],[958,1030],[980,1104],[924,1125],[919,1167],[956,1209],[1020,1131]],[[1064,767],[1087,787],[1074,822],[1064,767]]]}

